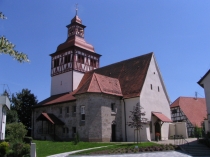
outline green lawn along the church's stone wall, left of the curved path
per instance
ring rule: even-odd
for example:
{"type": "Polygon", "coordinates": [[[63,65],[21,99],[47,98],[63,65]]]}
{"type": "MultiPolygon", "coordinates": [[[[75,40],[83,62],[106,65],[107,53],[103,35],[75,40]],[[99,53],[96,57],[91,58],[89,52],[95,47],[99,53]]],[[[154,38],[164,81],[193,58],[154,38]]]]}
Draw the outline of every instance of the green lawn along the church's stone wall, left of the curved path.
{"type": "Polygon", "coordinates": [[[74,150],[113,145],[113,143],[97,142],[79,142],[77,145],[74,145],[72,142],[53,142],[40,140],[33,140],[33,143],[36,143],[37,157],[46,157],[48,155],[70,152],[74,150]]]}

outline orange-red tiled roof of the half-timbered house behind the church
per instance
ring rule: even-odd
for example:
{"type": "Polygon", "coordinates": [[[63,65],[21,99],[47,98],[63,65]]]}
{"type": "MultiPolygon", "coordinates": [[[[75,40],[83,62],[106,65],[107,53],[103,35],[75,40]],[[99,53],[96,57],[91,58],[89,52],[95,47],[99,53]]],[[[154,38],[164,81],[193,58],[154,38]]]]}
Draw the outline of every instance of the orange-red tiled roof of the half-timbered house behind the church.
{"type": "Polygon", "coordinates": [[[207,116],[205,98],[179,97],[170,107],[180,107],[192,125],[198,127],[201,127],[201,122],[207,116]]]}

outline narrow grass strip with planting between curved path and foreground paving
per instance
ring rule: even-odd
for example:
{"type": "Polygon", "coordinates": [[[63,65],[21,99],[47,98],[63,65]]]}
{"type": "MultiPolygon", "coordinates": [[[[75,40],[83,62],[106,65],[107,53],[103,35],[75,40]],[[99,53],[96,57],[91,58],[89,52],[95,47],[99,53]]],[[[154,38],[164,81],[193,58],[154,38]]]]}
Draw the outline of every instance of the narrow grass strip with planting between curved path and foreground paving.
{"type": "MultiPolygon", "coordinates": [[[[114,145],[99,149],[92,149],[87,151],[82,151],[75,153],[74,155],[95,155],[95,154],[116,154],[118,153],[125,153],[125,150],[132,149],[132,151],[135,149],[135,146],[137,144],[126,144],[126,143],[112,143],[114,145]]],[[[138,148],[145,148],[145,147],[152,147],[152,146],[159,146],[159,144],[152,143],[152,142],[142,142],[138,144],[138,148]]],[[[73,155],[73,154],[72,154],[73,155]]]]}

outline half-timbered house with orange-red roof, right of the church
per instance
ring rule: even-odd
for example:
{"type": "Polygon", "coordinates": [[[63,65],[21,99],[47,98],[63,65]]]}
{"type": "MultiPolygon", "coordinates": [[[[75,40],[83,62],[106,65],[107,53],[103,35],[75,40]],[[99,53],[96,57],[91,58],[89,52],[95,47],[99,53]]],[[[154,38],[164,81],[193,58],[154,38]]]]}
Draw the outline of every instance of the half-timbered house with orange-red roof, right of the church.
{"type": "Polygon", "coordinates": [[[186,122],[188,136],[194,134],[194,127],[202,127],[206,118],[205,98],[179,97],[170,106],[173,122],[186,122]]]}

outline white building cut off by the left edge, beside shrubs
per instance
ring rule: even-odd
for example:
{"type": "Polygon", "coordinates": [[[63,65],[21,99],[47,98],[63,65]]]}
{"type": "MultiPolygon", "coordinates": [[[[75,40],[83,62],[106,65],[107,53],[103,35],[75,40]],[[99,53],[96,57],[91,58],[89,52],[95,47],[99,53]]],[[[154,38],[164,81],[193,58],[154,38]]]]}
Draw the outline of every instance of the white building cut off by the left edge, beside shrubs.
{"type": "Polygon", "coordinates": [[[7,95],[0,96],[0,140],[5,139],[7,110],[10,109],[10,101],[7,95]]]}

